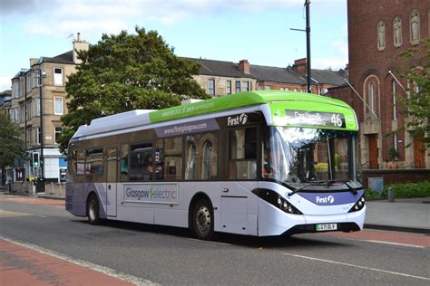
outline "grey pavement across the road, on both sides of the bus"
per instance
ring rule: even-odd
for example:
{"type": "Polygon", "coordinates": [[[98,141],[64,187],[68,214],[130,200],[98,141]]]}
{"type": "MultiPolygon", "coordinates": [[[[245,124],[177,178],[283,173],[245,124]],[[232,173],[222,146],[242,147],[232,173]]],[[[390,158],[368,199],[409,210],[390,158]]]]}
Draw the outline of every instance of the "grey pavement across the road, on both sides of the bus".
{"type": "MultiPolygon", "coordinates": [[[[0,187],[0,193],[6,193],[0,187]]],[[[12,195],[12,194],[8,194],[12,195]]],[[[46,199],[62,199],[64,195],[37,194],[46,199]]],[[[365,228],[386,231],[430,234],[430,197],[367,201],[365,228]]]]}

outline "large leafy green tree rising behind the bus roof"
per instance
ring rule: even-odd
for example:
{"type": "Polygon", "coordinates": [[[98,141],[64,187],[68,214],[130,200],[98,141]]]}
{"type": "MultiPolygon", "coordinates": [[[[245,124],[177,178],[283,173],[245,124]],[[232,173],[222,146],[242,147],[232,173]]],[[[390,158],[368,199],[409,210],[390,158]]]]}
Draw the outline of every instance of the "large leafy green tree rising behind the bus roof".
{"type": "Polygon", "coordinates": [[[163,109],[188,98],[208,95],[192,75],[200,64],[179,58],[155,31],[136,27],[137,34],[122,31],[103,34],[88,51],[79,51],[83,61],[65,86],[69,113],[62,120],[59,139],[64,152],[73,133],[102,115],[136,109],[163,109]]]}

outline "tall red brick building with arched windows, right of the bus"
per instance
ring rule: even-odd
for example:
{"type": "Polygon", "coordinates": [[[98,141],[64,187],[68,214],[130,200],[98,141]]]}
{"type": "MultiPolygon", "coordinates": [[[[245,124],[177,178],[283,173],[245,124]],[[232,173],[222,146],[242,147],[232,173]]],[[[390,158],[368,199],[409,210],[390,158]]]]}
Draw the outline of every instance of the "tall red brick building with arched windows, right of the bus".
{"type": "Polygon", "coordinates": [[[428,64],[415,59],[405,67],[398,54],[430,37],[430,0],[348,0],[347,14],[349,81],[364,101],[350,89],[330,93],[335,97],[343,93],[339,97],[357,112],[363,167],[430,168],[430,151],[421,152],[419,138],[407,130],[392,132],[409,119],[400,112],[398,97],[407,97],[402,86],[419,88],[401,74],[428,64]],[[393,149],[396,161],[390,156],[393,149]]]}

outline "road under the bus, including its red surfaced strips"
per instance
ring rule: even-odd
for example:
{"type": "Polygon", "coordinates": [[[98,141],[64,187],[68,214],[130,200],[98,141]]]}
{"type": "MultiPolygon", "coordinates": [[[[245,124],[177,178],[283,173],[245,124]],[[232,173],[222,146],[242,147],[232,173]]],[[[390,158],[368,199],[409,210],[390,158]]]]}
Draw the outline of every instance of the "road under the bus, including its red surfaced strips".
{"type": "Polygon", "coordinates": [[[179,228],[93,226],[65,212],[64,201],[0,195],[3,285],[429,285],[429,265],[423,234],[221,234],[202,242],[179,228]]]}

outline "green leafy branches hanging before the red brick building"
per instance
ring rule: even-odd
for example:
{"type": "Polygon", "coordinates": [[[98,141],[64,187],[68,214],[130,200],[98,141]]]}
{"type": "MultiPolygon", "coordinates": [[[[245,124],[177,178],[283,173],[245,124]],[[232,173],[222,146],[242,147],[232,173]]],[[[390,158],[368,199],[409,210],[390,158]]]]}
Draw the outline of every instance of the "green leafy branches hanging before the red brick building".
{"type": "Polygon", "coordinates": [[[424,136],[425,148],[430,148],[430,39],[425,39],[420,45],[401,52],[399,57],[408,68],[402,76],[410,87],[407,98],[399,97],[404,105],[402,112],[410,116],[406,121],[406,130],[415,138],[424,136]],[[416,69],[417,65],[423,69],[416,69]],[[417,87],[417,88],[416,88],[417,87]]]}

